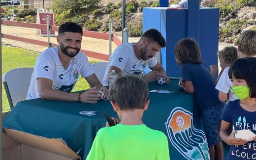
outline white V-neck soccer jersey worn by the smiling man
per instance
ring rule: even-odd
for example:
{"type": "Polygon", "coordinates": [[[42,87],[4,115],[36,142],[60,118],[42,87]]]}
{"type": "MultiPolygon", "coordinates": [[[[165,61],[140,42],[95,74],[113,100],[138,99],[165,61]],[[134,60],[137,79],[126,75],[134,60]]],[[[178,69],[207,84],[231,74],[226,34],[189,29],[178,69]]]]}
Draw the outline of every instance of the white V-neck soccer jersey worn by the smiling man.
{"type": "Polygon", "coordinates": [[[52,88],[70,92],[81,74],[88,77],[94,73],[87,56],[81,51],[71,58],[65,70],[58,54],[59,46],[50,48],[41,53],[34,66],[27,100],[40,98],[37,78],[46,78],[53,81],[52,88]]]}

